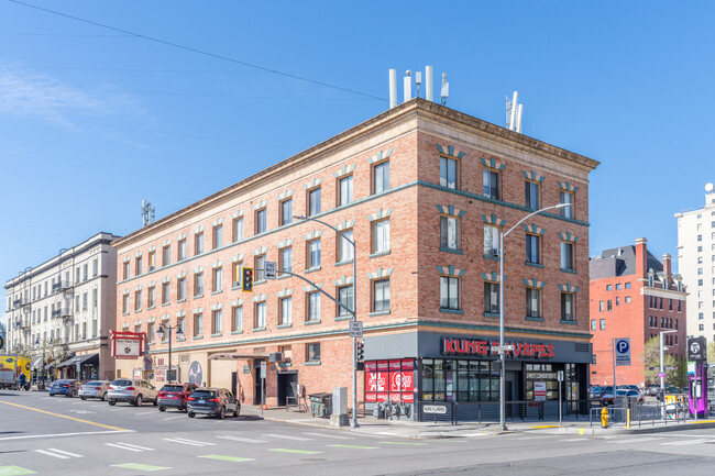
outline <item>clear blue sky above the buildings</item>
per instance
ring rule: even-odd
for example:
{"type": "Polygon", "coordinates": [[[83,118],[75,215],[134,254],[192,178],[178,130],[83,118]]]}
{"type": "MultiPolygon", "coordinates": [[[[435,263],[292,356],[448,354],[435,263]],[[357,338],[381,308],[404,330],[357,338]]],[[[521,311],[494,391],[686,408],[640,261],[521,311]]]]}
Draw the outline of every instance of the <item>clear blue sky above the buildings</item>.
{"type": "MultiPolygon", "coordinates": [[[[141,228],[388,108],[447,106],[601,162],[590,254],[648,239],[715,181],[713,2],[0,0],[0,276],[141,228]],[[424,95],[424,90],[422,90],[424,95]],[[438,96],[439,92],[436,92],[438,96]]],[[[0,314],[6,300],[0,306],[0,314]]]]}

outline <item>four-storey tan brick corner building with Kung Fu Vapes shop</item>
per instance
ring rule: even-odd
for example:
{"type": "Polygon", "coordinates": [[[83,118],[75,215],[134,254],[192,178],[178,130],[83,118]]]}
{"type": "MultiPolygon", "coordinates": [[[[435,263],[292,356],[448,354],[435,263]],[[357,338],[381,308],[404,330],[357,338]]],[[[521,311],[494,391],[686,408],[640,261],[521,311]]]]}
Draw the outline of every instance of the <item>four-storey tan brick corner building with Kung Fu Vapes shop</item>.
{"type": "MultiPolygon", "coordinates": [[[[586,398],[588,174],[597,162],[413,99],[116,242],[118,331],[145,333],[143,359],[118,375],[166,380],[161,323],[179,325],[178,378],[233,389],[257,403],[268,354],[267,403],[351,386],[350,314],[295,277],[240,290],[241,266],[301,274],[352,302],[365,328],[359,399],[498,399],[498,232],[506,252],[507,397],[534,399],[534,379],[586,398]]],[[[167,337],[165,337],[167,339],[167,337]]]]}

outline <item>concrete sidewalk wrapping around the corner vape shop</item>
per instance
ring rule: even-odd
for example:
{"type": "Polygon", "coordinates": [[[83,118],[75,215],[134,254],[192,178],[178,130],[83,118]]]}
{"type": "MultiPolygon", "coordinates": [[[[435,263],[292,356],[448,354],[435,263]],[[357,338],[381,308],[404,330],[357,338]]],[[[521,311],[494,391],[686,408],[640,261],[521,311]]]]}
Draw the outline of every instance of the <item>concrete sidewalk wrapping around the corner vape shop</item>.
{"type": "Polygon", "coordinates": [[[358,419],[359,428],[351,427],[332,427],[330,419],[314,418],[310,413],[289,411],[285,408],[263,410],[257,406],[243,406],[241,414],[255,418],[263,418],[268,421],[277,421],[302,427],[321,428],[337,431],[354,431],[359,433],[395,436],[405,439],[430,440],[444,438],[479,438],[486,435],[536,432],[551,434],[574,434],[574,435],[608,435],[608,434],[641,434],[657,433],[662,431],[684,431],[705,428],[715,428],[715,420],[688,420],[686,422],[668,421],[667,423],[656,421],[632,422],[630,429],[623,425],[612,427],[608,429],[601,428],[601,420],[593,422],[591,427],[588,419],[569,419],[559,425],[558,421],[507,421],[508,430],[499,428],[498,422],[460,422],[451,425],[444,422],[417,422],[403,418],[402,420],[378,420],[373,417],[361,417],[358,419]],[[263,413],[263,414],[262,414],[263,413]]]}

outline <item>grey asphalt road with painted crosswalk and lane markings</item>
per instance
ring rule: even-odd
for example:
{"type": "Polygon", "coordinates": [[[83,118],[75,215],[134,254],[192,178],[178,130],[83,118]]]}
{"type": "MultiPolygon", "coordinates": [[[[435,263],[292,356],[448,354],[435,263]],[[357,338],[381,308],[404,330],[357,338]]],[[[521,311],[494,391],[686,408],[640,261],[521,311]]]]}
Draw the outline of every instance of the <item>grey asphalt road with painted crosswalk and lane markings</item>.
{"type": "Polygon", "coordinates": [[[520,432],[403,440],[240,417],[217,420],[97,400],[0,392],[0,476],[693,475],[715,467],[715,430],[579,436],[520,432]]]}

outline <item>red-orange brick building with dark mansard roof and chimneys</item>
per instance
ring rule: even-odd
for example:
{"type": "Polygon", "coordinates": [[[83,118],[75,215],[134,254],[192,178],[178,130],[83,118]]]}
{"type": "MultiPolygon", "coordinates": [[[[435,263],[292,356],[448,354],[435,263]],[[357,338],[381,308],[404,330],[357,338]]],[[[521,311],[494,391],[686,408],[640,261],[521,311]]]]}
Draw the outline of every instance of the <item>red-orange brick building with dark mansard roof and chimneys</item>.
{"type": "Polygon", "coordinates": [[[688,294],[671,265],[669,254],[661,263],[648,251],[646,239],[591,258],[592,383],[613,384],[613,339],[630,337],[631,365],[616,367],[617,385],[646,384],[644,348],[661,331],[678,331],[663,334],[663,344],[669,354],[684,354],[688,294]]]}

